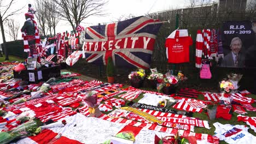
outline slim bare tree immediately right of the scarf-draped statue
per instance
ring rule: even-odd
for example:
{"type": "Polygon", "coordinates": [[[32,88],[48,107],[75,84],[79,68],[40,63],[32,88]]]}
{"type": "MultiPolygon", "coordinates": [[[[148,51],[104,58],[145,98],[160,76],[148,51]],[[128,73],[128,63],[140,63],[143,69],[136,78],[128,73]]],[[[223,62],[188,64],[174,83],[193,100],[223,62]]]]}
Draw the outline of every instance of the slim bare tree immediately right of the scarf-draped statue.
{"type": "Polygon", "coordinates": [[[37,10],[36,17],[37,17],[39,33],[40,35],[45,36],[48,31],[47,21],[46,21],[46,9],[48,9],[48,7],[45,5],[45,3],[42,0],[36,0],[35,8],[37,10]]]}

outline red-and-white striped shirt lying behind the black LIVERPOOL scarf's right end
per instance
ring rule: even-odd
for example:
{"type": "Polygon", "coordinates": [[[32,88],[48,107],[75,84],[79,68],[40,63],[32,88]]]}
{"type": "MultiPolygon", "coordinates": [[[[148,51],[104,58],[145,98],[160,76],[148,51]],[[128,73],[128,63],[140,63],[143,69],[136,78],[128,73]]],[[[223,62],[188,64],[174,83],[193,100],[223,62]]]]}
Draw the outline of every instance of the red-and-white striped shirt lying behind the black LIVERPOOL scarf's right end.
{"type": "Polygon", "coordinates": [[[191,112],[202,112],[202,109],[206,107],[205,102],[202,100],[182,98],[175,105],[172,106],[177,110],[185,110],[191,112]]]}

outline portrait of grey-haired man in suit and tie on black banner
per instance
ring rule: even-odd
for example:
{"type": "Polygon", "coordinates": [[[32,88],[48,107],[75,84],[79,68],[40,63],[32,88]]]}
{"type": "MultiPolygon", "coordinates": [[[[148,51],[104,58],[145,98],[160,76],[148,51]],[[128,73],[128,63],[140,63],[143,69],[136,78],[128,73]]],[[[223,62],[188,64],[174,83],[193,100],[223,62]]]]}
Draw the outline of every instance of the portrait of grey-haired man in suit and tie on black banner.
{"type": "Polygon", "coordinates": [[[222,67],[245,67],[245,54],[241,52],[242,49],[242,40],[238,37],[235,37],[231,40],[230,50],[222,61],[222,67]]]}

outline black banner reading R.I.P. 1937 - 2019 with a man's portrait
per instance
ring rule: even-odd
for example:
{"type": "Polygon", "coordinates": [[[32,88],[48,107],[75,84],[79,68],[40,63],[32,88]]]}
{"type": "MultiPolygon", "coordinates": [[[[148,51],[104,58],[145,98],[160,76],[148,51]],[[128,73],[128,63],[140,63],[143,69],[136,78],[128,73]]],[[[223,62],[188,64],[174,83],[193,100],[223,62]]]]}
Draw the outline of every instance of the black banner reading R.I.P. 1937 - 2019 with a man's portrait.
{"type": "Polygon", "coordinates": [[[221,39],[224,59],[220,67],[256,67],[255,28],[251,21],[228,21],[223,23],[221,39]]]}

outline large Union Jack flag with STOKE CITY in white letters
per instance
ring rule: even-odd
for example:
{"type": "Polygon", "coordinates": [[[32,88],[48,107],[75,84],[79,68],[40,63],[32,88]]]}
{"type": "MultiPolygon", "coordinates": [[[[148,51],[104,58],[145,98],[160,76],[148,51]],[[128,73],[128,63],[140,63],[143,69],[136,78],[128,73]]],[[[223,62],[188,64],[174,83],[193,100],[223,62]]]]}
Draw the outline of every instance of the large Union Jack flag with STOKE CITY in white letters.
{"type": "Polygon", "coordinates": [[[145,16],[86,28],[83,53],[86,61],[106,65],[112,57],[114,65],[148,69],[156,34],[162,22],[145,16]]]}

